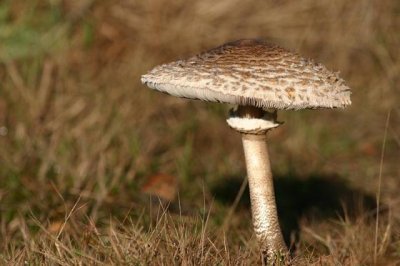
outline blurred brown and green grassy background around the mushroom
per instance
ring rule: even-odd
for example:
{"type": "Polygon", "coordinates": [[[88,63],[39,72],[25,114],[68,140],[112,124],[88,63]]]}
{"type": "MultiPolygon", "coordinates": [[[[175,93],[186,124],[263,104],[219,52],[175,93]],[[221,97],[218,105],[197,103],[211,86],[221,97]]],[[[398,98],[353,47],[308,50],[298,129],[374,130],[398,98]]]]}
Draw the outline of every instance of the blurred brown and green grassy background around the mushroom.
{"type": "Polygon", "coordinates": [[[242,38],[340,71],[353,92],[345,110],[280,112],[270,135],[294,257],[399,262],[396,0],[1,1],[0,262],[257,263],[230,107],[140,83],[242,38]]]}

